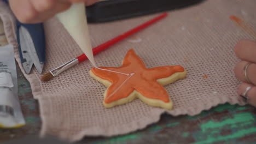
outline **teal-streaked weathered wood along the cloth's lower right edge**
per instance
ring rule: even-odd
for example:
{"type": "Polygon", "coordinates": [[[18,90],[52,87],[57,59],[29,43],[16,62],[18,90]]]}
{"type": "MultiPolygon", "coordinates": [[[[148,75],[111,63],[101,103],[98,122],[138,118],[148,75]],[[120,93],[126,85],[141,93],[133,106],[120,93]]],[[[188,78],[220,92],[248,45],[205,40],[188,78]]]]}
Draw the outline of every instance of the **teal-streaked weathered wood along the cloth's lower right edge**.
{"type": "Polygon", "coordinates": [[[89,143],[255,143],[256,109],[219,105],[197,116],[163,115],[160,122],[128,135],[86,139],[89,143]]]}

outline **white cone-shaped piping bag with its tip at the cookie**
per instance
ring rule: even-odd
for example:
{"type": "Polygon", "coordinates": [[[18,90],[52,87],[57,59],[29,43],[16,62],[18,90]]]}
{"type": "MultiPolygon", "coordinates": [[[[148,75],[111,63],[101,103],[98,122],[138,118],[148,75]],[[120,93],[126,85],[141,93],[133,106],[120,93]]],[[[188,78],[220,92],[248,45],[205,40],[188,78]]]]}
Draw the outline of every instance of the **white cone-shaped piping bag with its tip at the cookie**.
{"type": "Polygon", "coordinates": [[[82,49],[86,57],[88,57],[91,64],[96,67],[84,3],[72,4],[69,9],[55,15],[55,17],[66,28],[67,32],[75,40],[80,49],[82,49]]]}

